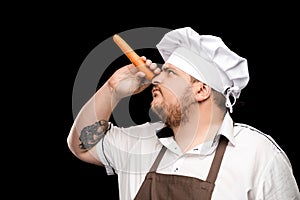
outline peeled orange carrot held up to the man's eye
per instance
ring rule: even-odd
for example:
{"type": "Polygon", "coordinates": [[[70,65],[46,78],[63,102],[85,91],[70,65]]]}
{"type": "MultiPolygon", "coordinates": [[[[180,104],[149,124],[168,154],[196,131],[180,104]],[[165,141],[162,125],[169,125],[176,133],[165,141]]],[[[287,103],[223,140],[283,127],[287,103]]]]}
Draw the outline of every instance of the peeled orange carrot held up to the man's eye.
{"type": "Polygon", "coordinates": [[[151,80],[154,77],[154,73],[146,66],[143,59],[136,54],[136,52],[123,40],[118,34],[113,36],[114,42],[119,46],[123,53],[129,58],[129,60],[146,75],[146,79],[151,80]]]}

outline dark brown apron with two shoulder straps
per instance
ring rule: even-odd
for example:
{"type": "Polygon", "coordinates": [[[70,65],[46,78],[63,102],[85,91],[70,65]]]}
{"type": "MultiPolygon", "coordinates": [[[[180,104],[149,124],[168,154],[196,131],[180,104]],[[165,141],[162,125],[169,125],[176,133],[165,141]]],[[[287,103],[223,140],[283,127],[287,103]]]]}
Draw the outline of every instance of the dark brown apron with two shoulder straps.
{"type": "Polygon", "coordinates": [[[221,136],[207,180],[182,175],[156,173],[166,147],[159,152],[135,200],[210,200],[228,140],[221,136]]]}

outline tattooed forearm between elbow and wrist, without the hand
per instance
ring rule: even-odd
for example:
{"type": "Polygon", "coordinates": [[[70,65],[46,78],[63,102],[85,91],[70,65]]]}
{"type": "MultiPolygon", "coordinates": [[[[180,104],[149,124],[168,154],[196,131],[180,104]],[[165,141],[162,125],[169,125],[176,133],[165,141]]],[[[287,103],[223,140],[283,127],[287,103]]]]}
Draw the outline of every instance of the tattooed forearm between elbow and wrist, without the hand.
{"type": "Polygon", "coordinates": [[[107,128],[107,124],[103,122],[108,122],[118,102],[114,91],[105,83],[82,107],[67,139],[70,150],[77,157],[91,162],[86,158],[90,156],[83,157],[84,153],[101,139],[101,133],[107,128]]]}

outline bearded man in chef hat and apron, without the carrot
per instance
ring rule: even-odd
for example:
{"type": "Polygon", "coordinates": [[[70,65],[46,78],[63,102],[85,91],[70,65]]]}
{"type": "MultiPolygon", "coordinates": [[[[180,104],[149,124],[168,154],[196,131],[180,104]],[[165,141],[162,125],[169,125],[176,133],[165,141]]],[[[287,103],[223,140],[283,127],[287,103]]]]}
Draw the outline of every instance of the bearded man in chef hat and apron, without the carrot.
{"type": "Polygon", "coordinates": [[[292,166],[268,135],[230,113],[249,81],[245,58],[190,27],[157,44],[165,64],[155,74],[132,64],[117,70],[76,117],[68,137],[79,159],[118,174],[120,199],[300,199],[292,166]],[[161,121],[117,127],[118,102],[153,86],[161,121]]]}

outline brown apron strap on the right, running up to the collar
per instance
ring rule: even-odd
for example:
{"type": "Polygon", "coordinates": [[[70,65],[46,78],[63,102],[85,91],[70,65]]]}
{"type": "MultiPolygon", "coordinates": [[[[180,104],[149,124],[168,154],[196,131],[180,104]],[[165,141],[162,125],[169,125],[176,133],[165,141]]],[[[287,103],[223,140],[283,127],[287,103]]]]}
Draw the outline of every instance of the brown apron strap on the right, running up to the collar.
{"type": "Polygon", "coordinates": [[[221,135],[219,145],[216,150],[216,155],[213,159],[210,171],[207,176],[207,182],[214,183],[216,181],[227,143],[227,138],[221,135]]]}

